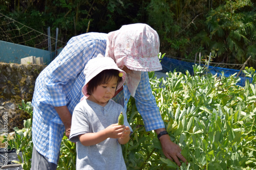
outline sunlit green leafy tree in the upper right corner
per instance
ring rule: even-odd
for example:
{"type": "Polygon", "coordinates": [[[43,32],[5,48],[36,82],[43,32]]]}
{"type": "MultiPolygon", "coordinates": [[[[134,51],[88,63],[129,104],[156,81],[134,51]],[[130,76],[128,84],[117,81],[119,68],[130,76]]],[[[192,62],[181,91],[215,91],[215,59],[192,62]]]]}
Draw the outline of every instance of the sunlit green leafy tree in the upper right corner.
{"type": "Polygon", "coordinates": [[[202,43],[217,54],[217,62],[244,63],[249,56],[255,59],[256,12],[251,1],[226,0],[209,12],[206,24],[209,38],[202,43]]]}

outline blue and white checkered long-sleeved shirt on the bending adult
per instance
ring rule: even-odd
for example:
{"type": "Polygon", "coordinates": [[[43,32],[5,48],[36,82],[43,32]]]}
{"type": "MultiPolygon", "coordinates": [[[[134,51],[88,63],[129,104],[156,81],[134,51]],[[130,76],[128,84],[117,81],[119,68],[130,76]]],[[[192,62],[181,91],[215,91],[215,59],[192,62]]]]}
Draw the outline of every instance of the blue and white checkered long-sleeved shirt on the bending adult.
{"type": "MultiPolygon", "coordinates": [[[[105,55],[106,35],[87,33],[73,37],[36,79],[32,100],[32,139],[36,150],[46,156],[49,162],[57,164],[60,143],[65,131],[65,126],[54,107],[67,106],[70,113],[73,113],[83,96],[81,93],[85,83],[83,68],[99,53],[105,55]]],[[[130,96],[131,93],[124,85],[123,90],[114,100],[126,110],[130,96]]],[[[164,128],[147,72],[142,72],[135,100],[147,131],[164,128]]]]}

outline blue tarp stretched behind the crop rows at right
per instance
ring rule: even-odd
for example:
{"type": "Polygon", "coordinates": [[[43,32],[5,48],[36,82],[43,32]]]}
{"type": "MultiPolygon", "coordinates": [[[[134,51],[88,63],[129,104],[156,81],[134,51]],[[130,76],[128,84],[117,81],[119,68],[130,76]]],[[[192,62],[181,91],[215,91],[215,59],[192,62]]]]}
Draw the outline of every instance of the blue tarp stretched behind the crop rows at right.
{"type": "MultiPolygon", "coordinates": [[[[161,65],[163,67],[163,70],[162,70],[163,72],[173,72],[176,69],[177,72],[182,72],[183,74],[186,74],[186,70],[188,70],[190,75],[194,75],[193,65],[195,65],[195,63],[192,63],[192,62],[180,61],[180,60],[176,60],[169,57],[163,57],[161,60],[161,65]]],[[[228,69],[228,68],[213,67],[213,66],[208,67],[208,72],[210,72],[212,75],[215,75],[215,74],[222,75],[222,72],[224,72],[225,77],[229,77],[235,74],[236,72],[238,74],[239,71],[240,70],[237,70],[237,69],[228,69]]],[[[251,78],[245,77],[242,71],[240,72],[239,77],[241,80],[238,83],[238,85],[240,86],[245,85],[246,79],[248,79],[249,82],[252,81],[251,78]]]]}

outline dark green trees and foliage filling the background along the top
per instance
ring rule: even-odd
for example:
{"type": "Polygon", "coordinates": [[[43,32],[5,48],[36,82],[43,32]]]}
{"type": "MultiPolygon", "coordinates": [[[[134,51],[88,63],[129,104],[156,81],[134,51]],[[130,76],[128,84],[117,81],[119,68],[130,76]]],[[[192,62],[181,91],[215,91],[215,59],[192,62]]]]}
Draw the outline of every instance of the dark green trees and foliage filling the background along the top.
{"type": "MultiPolygon", "coordinates": [[[[0,12],[67,42],[87,32],[109,33],[122,25],[143,22],[160,37],[166,56],[202,58],[219,63],[255,65],[255,0],[0,0],[0,12]]],[[[232,67],[239,69],[239,67],[232,67]]]]}

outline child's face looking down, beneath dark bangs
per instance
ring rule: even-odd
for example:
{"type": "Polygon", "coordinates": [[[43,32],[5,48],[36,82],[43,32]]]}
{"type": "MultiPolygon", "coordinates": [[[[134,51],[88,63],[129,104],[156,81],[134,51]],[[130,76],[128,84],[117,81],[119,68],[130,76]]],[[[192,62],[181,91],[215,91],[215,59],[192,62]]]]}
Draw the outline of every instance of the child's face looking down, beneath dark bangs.
{"type": "Polygon", "coordinates": [[[97,103],[98,105],[105,106],[111,100],[116,92],[117,78],[113,77],[108,83],[101,84],[96,87],[87,99],[97,103]]]}

